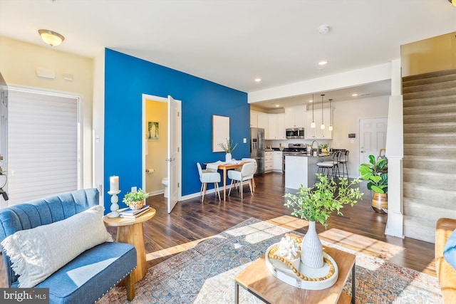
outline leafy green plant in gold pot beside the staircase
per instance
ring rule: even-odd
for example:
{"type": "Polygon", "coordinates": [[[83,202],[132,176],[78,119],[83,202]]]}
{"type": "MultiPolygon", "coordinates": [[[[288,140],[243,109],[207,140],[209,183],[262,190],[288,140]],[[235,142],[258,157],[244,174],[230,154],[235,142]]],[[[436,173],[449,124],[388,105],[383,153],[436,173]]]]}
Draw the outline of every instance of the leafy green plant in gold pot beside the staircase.
{"type": "Polygon", "coordinates": [[[373,192],[372,209],[385,214],[388,212],[388,159],[369,155],[369,163],[359,167],[361,178],[368,181],[368,189],[373,192]]]}

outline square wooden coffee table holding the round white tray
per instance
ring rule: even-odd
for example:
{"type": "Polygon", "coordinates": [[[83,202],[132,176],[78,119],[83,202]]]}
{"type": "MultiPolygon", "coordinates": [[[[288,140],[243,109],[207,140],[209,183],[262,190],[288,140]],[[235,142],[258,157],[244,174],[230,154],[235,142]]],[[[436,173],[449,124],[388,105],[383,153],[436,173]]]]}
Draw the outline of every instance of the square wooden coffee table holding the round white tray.
{"type": "Polygon", "coordinates": [[[355,261],[356,256],[336,248],[326,247],[325,251],[336,261],[338,279],[330,288],[323,290],[300,289],[280,281],[266,268],[264,255],[245,268],[235,278],[234,303],[239,303],[239,286],[252,293],[264,303],[355,303],[355,261]],[[348,276],[352,275],[352,297],[343,293],[348,276]]]}

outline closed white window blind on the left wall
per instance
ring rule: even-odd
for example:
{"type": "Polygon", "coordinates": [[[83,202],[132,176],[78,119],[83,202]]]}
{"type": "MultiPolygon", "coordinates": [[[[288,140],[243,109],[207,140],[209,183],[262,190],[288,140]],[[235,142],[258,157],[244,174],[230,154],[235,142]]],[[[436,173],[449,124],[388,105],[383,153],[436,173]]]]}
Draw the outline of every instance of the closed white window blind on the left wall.
{"type": "Polygon", "coordinates": [[[9,92],[9,206],[78,189],[79,98],[9,92]]]}

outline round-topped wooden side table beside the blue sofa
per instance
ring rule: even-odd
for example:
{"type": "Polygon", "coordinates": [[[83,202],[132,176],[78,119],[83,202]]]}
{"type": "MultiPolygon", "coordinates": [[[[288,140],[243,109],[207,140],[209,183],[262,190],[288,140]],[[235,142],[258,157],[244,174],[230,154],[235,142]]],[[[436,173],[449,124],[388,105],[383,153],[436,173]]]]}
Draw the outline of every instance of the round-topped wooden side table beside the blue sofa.
{"type": "Polygon", "coordinates": [[[142,223],[152,219],[155,216],[155,209],[150,208],[149,211],[141,214],[135,219],[128,219],[125,217],[105,216],[103,221],[108,226],[117,227],[116,241],[120,243],[130,243],[136,248],[136,259],[138,266],[133,271],[133,283],[140,281],[147,273],[147,263],[145,261],[145,244],[144,244],[144,230],[142,223]]]}

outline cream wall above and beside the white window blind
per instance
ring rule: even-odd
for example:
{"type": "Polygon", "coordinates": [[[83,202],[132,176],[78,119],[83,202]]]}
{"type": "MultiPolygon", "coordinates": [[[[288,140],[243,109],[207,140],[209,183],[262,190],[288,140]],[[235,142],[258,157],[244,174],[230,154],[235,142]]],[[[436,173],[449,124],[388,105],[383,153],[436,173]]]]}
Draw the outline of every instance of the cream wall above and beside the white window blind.
{"type": "Polygon", "coordinates": [[[0,36],[0,70],[8,85],[39,88],[81,96],[83,137],[83,188],[92,187],[92,97],[93,60],[0,36]],[[54,70],[55,79],[40,78],[36,68],[54,70]],[[64,80],[63,75],[73,75],[64,80]]]}

